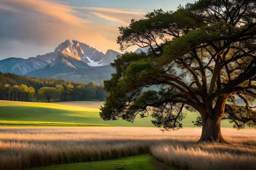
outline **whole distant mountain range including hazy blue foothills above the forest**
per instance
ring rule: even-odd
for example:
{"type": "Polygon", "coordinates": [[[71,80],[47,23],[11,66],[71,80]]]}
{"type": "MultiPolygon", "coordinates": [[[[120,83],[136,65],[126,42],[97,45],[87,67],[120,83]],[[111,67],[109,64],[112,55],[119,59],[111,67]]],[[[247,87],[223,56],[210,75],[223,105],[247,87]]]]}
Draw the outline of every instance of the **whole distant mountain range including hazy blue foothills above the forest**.
{"type": "Polygon", "coordinates": [[[117,55],[121,53],[108,50],[104,54],[82,42],[66,40],[45,55],[0,60],[0,72],[102,84],[115,72],[110,63],[117,55]]]}

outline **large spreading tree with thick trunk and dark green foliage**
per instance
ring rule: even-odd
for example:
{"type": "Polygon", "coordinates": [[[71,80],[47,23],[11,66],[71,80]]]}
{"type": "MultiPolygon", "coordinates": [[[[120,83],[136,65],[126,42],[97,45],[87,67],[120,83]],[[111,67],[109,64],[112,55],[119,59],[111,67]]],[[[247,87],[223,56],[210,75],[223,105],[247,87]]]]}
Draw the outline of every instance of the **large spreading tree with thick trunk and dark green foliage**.
{"type": "Polygon", "coordinates": [[[151,50],[126,52],[112,64],[116,73],[104,81],[109,95],[102,119],[152,115],[155,126],[170,130],[182,127],[186,110],[197,110],[200,141],[217,142],[225,142],[222,118],[236,128],[256,127],[256,2],[199,0],[148,13],[119,31],[122,50],[151,50]],[[153,85],[158,89],[148,88],[153,85]]]}

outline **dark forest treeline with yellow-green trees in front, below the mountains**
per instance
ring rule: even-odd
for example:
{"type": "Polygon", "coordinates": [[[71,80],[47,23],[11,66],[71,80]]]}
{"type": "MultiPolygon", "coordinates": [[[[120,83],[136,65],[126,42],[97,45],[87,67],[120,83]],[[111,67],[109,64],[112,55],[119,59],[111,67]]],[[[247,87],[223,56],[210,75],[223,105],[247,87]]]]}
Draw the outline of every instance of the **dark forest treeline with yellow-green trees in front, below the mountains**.
{"type": "Polygon", "coordinates": [[[104,101],[101,85],[0,72],[0,100],[23,102],[104,101]]]}

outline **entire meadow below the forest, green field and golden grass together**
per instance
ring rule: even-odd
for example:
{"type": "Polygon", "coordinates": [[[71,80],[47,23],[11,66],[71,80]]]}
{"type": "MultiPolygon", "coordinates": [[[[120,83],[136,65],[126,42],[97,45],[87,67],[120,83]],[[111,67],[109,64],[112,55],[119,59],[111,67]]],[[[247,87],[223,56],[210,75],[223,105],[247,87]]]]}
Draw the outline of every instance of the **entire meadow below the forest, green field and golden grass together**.
{"type": "Polygon", "coordinates": [[[134,123],[103,121],[99,117],[102,104],[0,101],[0,170],[86,170],[105,163],[111,165],[108,170],[131,169],[136,163],[141,169],[154,170],[152,158],[168,165],[166,170],[256,167],[254,129],[238,131],[222,122],[222,135],[231,144],[200,143],[202,129],[191,128],[196,113],[184,119],[185,128],[162,132],[152,127],[151,117],[134,123]]]}

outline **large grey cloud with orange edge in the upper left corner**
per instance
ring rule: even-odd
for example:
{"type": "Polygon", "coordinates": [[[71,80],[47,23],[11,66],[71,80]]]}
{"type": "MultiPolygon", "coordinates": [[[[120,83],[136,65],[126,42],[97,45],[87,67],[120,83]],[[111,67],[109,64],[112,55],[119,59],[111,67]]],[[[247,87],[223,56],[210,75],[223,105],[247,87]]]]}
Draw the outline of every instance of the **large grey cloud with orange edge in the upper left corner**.
{"type": "MultiPolygon", "coordinates": [[[[1,1],[0,38],[45,44],[57,40],[72,29],[81,29],[81,24],[89,23],[76,17],[70,7],[47,1],[8,0],[1,1]],[[65,31],[66,30],[66,31],[65,31]]],[[[86,32],[86,26],[83,27],[86,32]]]]}

